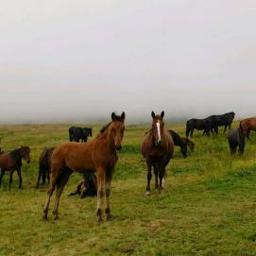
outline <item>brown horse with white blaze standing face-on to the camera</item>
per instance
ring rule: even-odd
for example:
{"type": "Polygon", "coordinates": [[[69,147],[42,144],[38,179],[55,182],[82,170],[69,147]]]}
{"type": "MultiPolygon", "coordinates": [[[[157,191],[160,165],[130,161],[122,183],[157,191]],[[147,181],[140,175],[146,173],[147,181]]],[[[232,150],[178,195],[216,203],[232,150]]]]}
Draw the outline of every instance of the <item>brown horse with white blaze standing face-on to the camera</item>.
{"type": "Polygon", "coordinates": [[[165,166],[173,157],[174,143],[170,133],[164,129],[163,116],[151,112],[152,128],[145,134],[142,144],[142,154],[147,165],[147,186],[145,195],[150,195],[151,169],[154,167],[155,188],[162,190],[162,178],[165,175],[165,166]]]}

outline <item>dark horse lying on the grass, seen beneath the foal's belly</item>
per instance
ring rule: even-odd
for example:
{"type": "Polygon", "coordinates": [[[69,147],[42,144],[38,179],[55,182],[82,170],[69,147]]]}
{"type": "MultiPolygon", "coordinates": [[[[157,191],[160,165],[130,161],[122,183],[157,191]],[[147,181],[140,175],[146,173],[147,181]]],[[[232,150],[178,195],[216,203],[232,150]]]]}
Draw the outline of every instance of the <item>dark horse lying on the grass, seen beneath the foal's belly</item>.
{"type": "Polygon", "coordinates": [[[77,185],[77,190],[68,196],[80,195],[80,198],[86,196],[97,196],[97,178],[94,173],[83,175],[83,180],[77,185]]]}

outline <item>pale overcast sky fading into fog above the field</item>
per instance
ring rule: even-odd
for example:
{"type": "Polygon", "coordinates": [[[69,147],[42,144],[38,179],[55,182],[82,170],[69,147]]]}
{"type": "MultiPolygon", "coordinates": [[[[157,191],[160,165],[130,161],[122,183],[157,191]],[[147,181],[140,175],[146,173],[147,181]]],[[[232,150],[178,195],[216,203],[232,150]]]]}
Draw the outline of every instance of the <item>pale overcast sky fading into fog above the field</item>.
{"type": "Polygon", "coordinates": [[[256,1],[9,0],[0,124],[256,115],[256,1]]]}

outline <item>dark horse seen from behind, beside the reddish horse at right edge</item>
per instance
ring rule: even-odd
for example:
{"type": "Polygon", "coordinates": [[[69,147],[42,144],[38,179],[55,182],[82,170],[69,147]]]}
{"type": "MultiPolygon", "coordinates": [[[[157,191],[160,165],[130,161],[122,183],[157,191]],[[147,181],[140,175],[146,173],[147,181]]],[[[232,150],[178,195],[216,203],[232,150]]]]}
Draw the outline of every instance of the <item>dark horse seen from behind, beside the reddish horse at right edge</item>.
{"type": "Polygon", "coordinates": [[[246,141],[245,141],[245,134],[243,133],[243,130],[241,127],[236,129],[230,129],[230,132],[228,134],[228,141],[230,145],[231,155],[235,154],[237,146],[240,154],[243,155],[246,141]]]}

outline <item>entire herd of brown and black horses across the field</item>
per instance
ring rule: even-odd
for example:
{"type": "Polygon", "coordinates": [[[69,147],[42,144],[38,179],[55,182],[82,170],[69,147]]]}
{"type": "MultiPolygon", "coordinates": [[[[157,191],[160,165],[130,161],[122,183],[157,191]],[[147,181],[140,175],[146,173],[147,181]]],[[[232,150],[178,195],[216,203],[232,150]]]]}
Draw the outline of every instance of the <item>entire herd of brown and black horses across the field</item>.
{"type": "MultiPolygon", "coordinates": [[[[165,175],[165,167],[173,158],[174,145],[179,145],[183,157],[187,155],[187,147],[193,151],[195,144],[188,139],[193,136],[194,130],[203,130],[206,133],[217,134],[218,128],[224,126],[224,132],[231,126],[234,112],[222,115],[211,115],[205,119],[190,119],[186,124],[186,137],[180,137],[173,130],[164,128],[164,111],[161,114],[151,112],[152,126],[145,132],[142,143],[142,155],[147,165],[147,185],[145,195],[150,195],[150,180],[152,168],[155,175],[155,188],[162,190],[162,179],[165,175]]],[[[125,132],[126,114],[111,113],[111,122],[100,129],[96,138],[87,142],[88,136],[93,135],[92,128],[69,128],[70,142],[63,143],[57,147],[43,150],[39,161],[39,176],[36,187],[43,179],[48,179],[49,188],[46,202],[43,208],[43,219],[48,218],[48,210],[51,196],[56,190],[54,205],[55,219],[59,218],[60,196],[70,175],[73,172],[83,174],[84,180],[77,186],[77,191],[70,194],[80,194],[81,197],[97,195],[96,216],[100,222],[103,220],[103,196],[106,197],[105,213],[107,220],[112,219],[110,195],[111,179],[116,162],[118,161],[117,150],[122,148],[122,140],[125,132]],[[78,143],[81,140],[83,143],[78,143]],[[96,173],[96,177],[94,176],[96,173]]],[[[245,137],[249,138],[250,130],[256,131],[256,118],[247,118],[240,122],[239,128],[230,129],[228,141],[231,154],[239,147],[243,154],[245,137]]],[[[1,150],[1,149],[0,149],[1,150]]],[[[12,182],[12,174],[16,170],[19,176],[19,188],[22,187],[21,166],[22,160],[30,162],[30,148],[22,146],[13,151],[0,151],[0,186],[6,171],[9,171],[9,188],[12,182]]]]}

